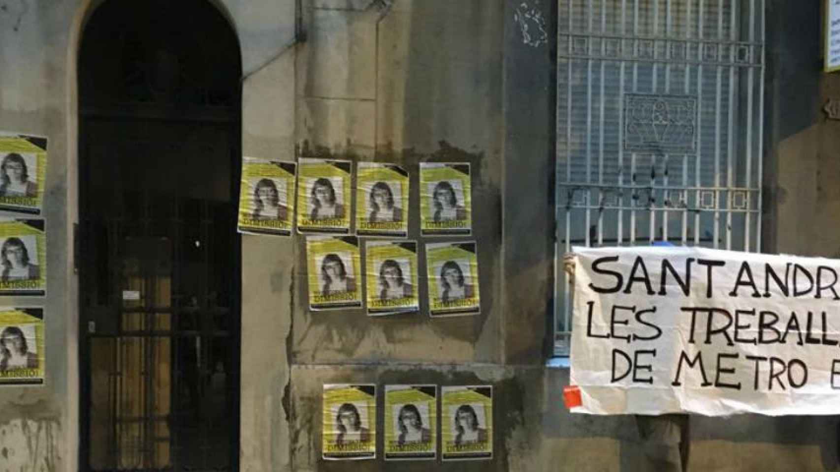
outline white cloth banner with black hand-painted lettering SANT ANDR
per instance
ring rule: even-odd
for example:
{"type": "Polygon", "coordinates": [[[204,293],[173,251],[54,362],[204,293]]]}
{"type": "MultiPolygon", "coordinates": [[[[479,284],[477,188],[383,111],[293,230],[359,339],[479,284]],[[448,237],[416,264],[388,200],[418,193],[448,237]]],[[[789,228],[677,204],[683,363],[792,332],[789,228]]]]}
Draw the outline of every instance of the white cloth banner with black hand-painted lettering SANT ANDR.
{"type": "Polygon", "coordinates": [[[575,247],[573,412],[837,414],[840,261],[575,247]]]}

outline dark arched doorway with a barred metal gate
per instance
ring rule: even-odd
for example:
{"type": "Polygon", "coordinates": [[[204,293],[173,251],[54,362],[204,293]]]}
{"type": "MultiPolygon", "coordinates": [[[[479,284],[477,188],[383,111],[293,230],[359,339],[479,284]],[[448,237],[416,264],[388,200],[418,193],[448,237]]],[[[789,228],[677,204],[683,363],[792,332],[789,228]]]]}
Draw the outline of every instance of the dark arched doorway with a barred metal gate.
{"type": "Polygon", "coordinates": [[[110,0],[78,67],[81,470],[237,470],[239,45],[110,0]]]}

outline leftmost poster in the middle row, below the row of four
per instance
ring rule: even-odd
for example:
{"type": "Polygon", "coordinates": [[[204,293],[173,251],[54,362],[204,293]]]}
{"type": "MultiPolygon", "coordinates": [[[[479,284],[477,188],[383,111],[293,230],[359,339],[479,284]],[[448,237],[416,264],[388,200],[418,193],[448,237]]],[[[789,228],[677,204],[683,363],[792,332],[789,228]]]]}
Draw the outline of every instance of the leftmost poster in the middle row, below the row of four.
{"type": "Polygon", "coordinates": [[[307,238],[309,309],[362,306],[359,240],[354,236],[307,238]]]}

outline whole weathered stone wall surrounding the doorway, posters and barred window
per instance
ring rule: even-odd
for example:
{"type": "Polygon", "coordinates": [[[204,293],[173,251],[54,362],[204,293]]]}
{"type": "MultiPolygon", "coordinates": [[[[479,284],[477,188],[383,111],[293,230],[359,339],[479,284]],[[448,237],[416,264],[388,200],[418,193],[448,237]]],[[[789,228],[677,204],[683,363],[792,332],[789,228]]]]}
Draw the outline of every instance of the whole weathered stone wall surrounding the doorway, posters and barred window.
{"type": "MultiPolygon", "coordinates": [[[[97,3],[0,0],[0,127],[50,137],[49,381],[0,388],[0,470],[77,466],[75,67],[97,3]]],[[[656,455],[673,454],[674,443],[644,441],[632,416],[571,415],[561,399],[568,370],[544,366],[553,309],[554,4],[214,3],[242,49],[245,154],[401,163],[412,172],[412,209],[418,163],[472,164],[483,304],[479,316],[456,319],[312,313],[301,238],[243,236],[240,469],[667,469],[656,455]],[[523,30],[522,8],[545,23],[523,30]],[[320,396],[328,382],[490,383],[494,459],[324,462],[320,396]]],[[[840,75],[820,71],[818,3],[773,0],[767,18],[765,250],[837,257],[840,122],[821,109],[840,98],[840,75]]],[[[416,218],[409,229],[419,239],[416,218]]],[[[837,469],[837,424],[692,417],[689,469],[837,469]]]]}

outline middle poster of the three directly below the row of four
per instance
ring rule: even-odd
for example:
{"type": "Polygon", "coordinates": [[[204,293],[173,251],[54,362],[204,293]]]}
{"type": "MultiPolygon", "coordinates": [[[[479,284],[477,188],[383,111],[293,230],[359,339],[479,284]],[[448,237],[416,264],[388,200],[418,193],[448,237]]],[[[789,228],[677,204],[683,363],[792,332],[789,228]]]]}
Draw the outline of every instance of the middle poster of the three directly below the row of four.
{"type": "Polygon", "coordinates": [[[417,241],[368,241],[365,283],[370,316],[418,311],[417,241]]]}

